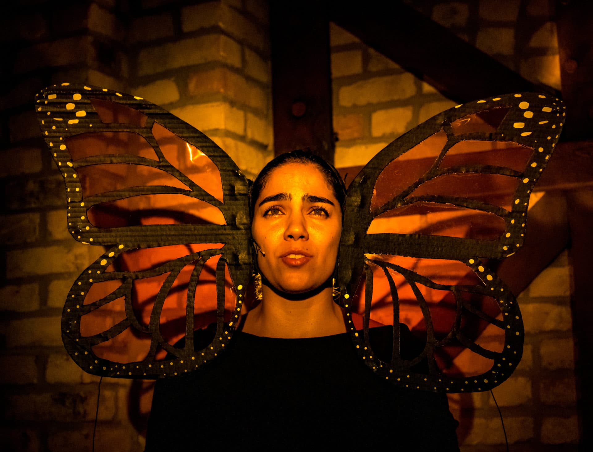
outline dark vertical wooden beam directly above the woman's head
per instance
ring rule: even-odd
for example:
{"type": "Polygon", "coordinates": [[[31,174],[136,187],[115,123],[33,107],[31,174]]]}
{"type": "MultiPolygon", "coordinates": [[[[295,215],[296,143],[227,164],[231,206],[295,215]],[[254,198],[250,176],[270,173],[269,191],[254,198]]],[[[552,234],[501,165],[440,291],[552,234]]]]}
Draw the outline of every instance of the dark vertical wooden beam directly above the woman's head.
{"type": "Polygon", "coordinates": [[[274,150],[333,164],[329,20],[323,2],[270,2],[274,150]],[[289,6],[288,6],[289,5],[289,6]]]}

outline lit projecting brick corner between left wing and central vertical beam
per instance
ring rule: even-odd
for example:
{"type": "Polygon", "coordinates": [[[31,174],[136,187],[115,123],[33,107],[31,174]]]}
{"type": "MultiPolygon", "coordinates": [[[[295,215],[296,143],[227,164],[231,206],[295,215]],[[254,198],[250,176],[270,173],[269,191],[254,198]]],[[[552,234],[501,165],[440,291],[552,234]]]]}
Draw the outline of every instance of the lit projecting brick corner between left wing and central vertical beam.
{"type": "Polygon", "coordinates": [[[206,133],[253,177],[273,157],[266,2],[160,3],[130,22],[130,91],[206,133]]]}

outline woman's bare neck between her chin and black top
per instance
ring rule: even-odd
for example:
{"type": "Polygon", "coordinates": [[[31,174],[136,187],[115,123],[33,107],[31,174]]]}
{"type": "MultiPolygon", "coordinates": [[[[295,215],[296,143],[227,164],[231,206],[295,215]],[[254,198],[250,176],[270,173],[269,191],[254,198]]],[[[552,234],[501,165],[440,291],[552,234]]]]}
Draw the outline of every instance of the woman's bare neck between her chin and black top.
{"type": "Polygon", "coordinates": [[[305,294],[286,294],[262,285],[262,303],[251,310],[243,331],[270,338],[315,338],[346,332],[342,309],[331,287],[305,294]]]}

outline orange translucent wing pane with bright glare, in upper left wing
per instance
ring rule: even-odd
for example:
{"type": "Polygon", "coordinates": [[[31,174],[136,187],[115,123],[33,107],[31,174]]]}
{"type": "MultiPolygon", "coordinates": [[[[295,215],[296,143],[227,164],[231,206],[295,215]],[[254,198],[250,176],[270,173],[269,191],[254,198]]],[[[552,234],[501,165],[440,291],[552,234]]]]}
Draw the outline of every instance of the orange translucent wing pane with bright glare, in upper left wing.
{"type": "Polygon", "coordinates": [[[152,126],[152,134],[171,165],[213,197],[224,201],[220,171],[205,153],[158,123],[152,126]]]}

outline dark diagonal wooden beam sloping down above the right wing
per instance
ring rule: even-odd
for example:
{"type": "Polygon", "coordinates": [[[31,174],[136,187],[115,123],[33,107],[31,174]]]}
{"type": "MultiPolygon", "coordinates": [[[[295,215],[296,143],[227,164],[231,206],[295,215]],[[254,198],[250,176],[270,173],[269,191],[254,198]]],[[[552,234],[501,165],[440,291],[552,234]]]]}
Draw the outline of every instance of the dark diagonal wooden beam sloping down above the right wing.
{"type": "Polygon", "coordinates": [[[463,103],[517,91],[547,91],[400,2],[330,2],[330,20],[463,103]]]}

